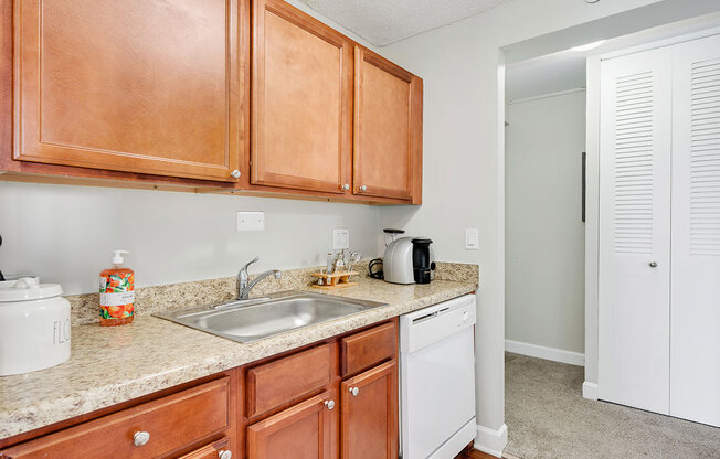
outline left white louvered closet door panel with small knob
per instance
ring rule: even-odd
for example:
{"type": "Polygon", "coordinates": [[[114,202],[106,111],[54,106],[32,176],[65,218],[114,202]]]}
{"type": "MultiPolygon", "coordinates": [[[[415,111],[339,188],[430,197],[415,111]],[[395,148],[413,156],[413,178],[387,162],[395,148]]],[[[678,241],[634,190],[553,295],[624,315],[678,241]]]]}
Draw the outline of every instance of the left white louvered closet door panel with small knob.
{"type": "Polygon", "coordinates": [[[669,413],[671,53],[601,64],[600,398],[669,413]]]}

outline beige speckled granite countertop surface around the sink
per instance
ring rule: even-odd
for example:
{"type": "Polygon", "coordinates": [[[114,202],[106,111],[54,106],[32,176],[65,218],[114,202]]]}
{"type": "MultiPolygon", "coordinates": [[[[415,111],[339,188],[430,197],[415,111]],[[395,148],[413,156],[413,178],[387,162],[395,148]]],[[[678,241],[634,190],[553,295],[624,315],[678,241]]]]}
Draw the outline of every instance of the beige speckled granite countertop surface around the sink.
{"type": "MultiPolygon", "coordinates": [[[[0,438],[151,394],[475,291],[477,282],[398,286],[362,279],[333,291],[388,303],[250,344],[150,316],[129,325],[77,325],[72,357],[57,366],[0,377],[0,438]]],[[[307,287],[309,289],[309,287],[307,287]]],[[[318,290],[313,290],[318,291],[318,290]]],[[[188,301],[191,303],[191,299],[188,301]]]]}

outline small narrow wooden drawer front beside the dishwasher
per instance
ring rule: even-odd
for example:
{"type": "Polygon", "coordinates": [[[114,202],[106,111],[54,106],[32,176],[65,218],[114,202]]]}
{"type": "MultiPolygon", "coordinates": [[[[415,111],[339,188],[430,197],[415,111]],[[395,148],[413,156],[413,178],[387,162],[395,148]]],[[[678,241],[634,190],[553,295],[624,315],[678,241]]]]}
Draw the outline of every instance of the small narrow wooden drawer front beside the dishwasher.
{"type": "Polygon", "coordinates": [[[340,341],[342,376],[354,374],[395,355],[395,325],[385,323],[340,341]]]}

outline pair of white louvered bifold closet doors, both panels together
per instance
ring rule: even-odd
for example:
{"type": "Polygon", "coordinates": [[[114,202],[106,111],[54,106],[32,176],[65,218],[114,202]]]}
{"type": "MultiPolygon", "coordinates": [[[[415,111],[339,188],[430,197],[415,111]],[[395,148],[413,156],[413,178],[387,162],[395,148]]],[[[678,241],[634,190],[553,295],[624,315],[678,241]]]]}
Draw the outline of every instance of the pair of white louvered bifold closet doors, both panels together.
{"type": "Polygon", "coordinates": [[[720,426],[720,35],[601,64],[600,398],[720,426]]]}

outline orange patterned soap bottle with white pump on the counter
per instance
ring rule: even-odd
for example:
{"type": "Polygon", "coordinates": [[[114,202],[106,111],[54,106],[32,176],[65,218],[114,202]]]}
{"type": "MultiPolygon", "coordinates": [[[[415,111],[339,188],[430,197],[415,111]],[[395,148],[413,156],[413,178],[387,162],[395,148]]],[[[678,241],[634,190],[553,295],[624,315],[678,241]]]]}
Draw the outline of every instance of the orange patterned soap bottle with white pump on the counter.
{"type": "Polygon", "coordinates": [[[100,327],[124,325],[135,317],[135,273],[123,266],[127,250],[113,250],[113,267],[100,273],[100,327]]]}

